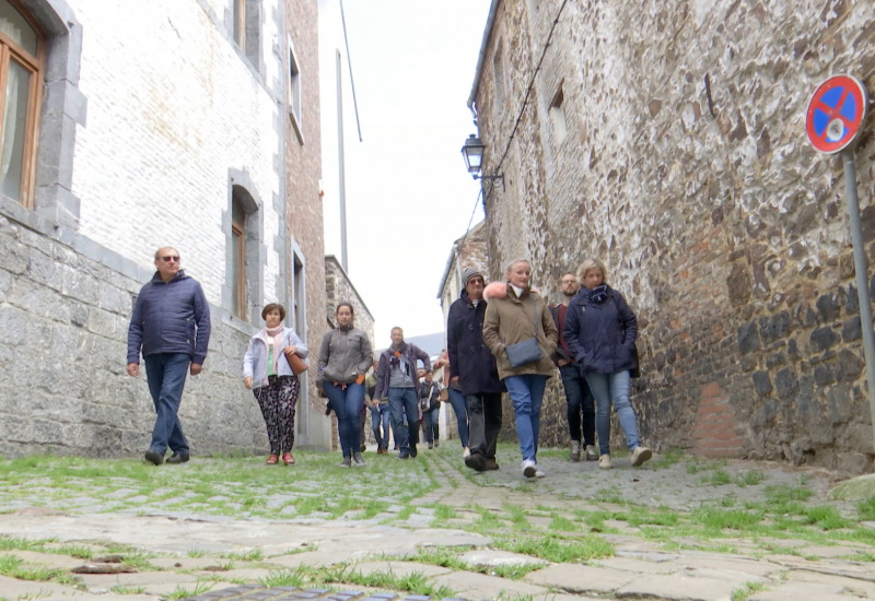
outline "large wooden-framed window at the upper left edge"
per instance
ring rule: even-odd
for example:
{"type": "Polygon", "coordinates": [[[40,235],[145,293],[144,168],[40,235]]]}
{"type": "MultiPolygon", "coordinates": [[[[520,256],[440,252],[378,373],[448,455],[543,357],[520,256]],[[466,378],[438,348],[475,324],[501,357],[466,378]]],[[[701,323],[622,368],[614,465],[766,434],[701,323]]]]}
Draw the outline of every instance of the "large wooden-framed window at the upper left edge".
{"type": "Polygon", "coordinates": [[[0,193],[32,205],[44,37],[0,0],[0,193]]]}

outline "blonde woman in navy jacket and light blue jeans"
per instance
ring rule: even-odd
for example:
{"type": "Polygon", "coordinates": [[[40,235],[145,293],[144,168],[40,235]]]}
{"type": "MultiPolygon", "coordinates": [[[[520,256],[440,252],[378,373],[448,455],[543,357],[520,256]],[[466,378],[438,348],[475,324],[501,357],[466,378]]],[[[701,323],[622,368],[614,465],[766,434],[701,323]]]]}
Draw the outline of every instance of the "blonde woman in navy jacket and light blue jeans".
{"type": "Polygon", "coordinates": [[[614,467],[609,447],[611,400],[632,453],[632,466],[640,466],[652,452],[640,445],[629,401],[629,372],[638,367],[638,319],[626,298],[607,285],[607,270],[598,259],[583,261],[578,280],[581,291],[569,304],[563,334],[595,397],[598,467],[614,467]]]}

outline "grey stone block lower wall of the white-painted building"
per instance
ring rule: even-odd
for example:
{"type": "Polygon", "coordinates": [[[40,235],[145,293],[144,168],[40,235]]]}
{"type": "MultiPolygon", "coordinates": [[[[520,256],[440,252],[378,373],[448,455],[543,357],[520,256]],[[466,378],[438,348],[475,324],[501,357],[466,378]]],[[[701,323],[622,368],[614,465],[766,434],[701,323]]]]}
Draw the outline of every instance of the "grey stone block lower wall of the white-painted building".
{"type": "MultiPolygon", "coordinates": [[[[137,456],[154,406],[126,372],[133,299],[152,272],[33,214],[0,216],[0,456],[137,456]]],[[[195,274],[197,278],[197,274],[195,274]]],[[[195,455],[261,452],[264,420],[243,388],[248,332],[210,307],[203,373],[189,377],[179,419],[195,455]]]]}

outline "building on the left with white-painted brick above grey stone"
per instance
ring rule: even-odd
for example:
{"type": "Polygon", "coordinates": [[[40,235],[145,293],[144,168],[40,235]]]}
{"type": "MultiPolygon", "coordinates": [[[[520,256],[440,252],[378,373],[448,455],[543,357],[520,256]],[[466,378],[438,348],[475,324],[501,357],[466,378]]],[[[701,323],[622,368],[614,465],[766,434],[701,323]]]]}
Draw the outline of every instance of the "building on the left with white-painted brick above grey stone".
{"type": "Polygon", "coordinates": [[[0,0],[0,453],[147,448],[125,349],[163,245],[212,315],[180,409],[192,451],[266,448],[241,384],[260,308],[285,304],[311,344],[325,330],[315,7],[0,0]]]}

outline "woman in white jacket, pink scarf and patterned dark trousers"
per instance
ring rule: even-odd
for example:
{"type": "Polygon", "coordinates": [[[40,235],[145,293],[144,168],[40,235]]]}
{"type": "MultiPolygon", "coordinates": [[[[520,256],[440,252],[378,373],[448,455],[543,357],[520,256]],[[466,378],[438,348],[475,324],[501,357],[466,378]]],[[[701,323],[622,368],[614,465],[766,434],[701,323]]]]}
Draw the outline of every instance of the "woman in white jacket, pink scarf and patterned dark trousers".
{"type": "Polygon", "coordinates": [[[261,310],[265,327],[249,340],[243,357],[243,385],[253,391],[267,425],[270,456],[267,462],[273,466],[294,463],[294,411],[301,382],[289,365],[289,355],[307,356],[307,345],[282,325],[285,307],[271,303],[261,310]]]}

